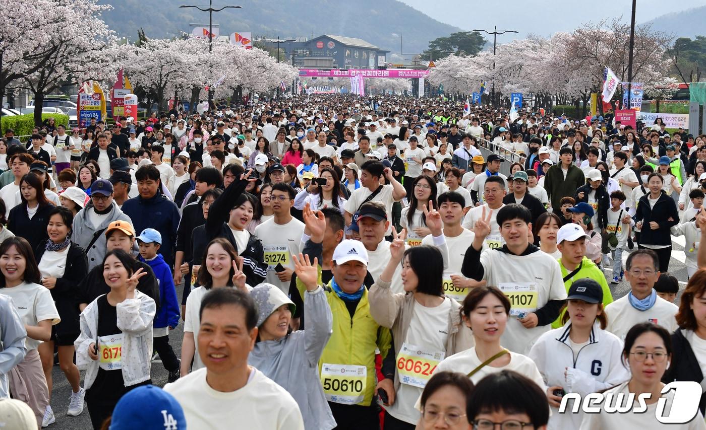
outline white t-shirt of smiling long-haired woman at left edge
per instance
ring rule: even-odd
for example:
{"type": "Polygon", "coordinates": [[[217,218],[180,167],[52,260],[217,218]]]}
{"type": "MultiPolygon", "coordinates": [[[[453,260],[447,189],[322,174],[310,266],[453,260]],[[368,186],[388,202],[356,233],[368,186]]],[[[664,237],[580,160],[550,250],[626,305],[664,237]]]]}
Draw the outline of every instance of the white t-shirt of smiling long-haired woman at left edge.
{"type": "MultiPolygon", "coordinates": [[[[49,319],[52,326],[59,324],[61,317],[56,311],[52,293],[38,283],[20,283],[12,288],[0,288],[0,294],[12,298],[13,305],[22,322],[28,326],[37,326],[39,321],[49,319]]],[[[42,343],[29,336],[25,339],[27,350],[35,350],[42,343]]]]}

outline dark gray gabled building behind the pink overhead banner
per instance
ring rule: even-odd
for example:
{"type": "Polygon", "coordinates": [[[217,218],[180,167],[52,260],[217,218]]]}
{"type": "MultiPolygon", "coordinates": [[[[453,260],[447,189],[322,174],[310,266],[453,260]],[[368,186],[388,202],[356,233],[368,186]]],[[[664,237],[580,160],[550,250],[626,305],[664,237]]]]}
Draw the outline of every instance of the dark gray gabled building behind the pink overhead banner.
{"type": "MultiPolygon", "coordinates": [[[[263,42],[275,47],[275,44],[263,42]]],[[[380,49],[363,39],[321,35],[297,42],[282,42],[287,59],[299,68],[374,69],[385,66],[388,50],[380,49]]]]}

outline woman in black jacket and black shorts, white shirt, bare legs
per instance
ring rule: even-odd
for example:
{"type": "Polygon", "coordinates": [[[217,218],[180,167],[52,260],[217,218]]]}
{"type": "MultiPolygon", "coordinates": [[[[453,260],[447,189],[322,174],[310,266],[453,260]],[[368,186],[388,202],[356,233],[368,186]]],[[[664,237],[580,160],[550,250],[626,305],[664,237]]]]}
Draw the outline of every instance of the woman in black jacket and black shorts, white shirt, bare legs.
{"type": "MultiPolygon", "coordinates": [[[[52,299],[61,321],[52,326],[52,338],[43,342],[38,350],[42,359],[44,376],[52,395],[52,369],[54,368],[54,345],[59,352],[59,367],[64,371],[71,385],[71,399],[67,414],[75,417],[83,411],[85,390],[80,387],[78,367],[73,364],[73,341],[78,338],[78,302],[74,290],[76,285],[88,275],[88,259],[85,251],[71,241],[73,214],[65,207],[55,207],[49,212],[47,233],[49,239],[37,247],[42,285],[52,293],[52,299]]],[[[54,417],[51,405],[47,405],[45,416],[54,417]]],[[[51,420],[51,419],[49,419],[51,420]]]]}

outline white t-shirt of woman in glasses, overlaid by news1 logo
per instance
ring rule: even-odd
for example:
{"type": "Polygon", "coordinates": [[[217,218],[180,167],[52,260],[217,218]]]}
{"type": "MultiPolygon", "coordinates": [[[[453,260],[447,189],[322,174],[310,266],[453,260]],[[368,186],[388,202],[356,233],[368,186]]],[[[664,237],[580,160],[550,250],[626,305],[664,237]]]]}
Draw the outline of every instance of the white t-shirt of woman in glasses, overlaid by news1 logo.
{"type": "MultiPolygon", "coordinates": [[[[628,381],[629,382],[629,381],[628,381]]],[[[604,394],[608,395],[612,393],[614,395],[618,393],[623,393],[623,395],[628,395],[630,392],[628,390],[628,382],[621,383],[615,388],[611,388],[605,391],[604,394]]],[[[669,393],[664,394],[662,397],[666,398],[666,405],[664,411],[671,410],[671,403],[674,400],[674,390],[670,390],[669,393]]],[[[615,399],[615,397],[614,397],[615,399]]],[[[615,404],[613,401],[613,404],[615,404]]],[[[657,421],[655,417],[655,412],[657,410],[657,403],[652,403],[647,405],[647,411],[641,414],[636,414],[634,412],[627,414],[612,413],[609,414],[605,412],[604,408],[599,408],[599,413],[597,414],[584,414],[583,421],[581,422],[580,430],[594,430],[594,429],[606,429],[606,430],[647,430],[647,429],[669,429],[669,430],[702,430],[706,429],[706,424],[704,424],[704,417],[700,411],[697,411],[696,417],[688,422],[687,424],[662,424],[657,421]]],[[[623,400],[623,405],[625,400],[623,400]]],[[[638,405],[637,398],[635,398],[635,406],[638,405]]]]}

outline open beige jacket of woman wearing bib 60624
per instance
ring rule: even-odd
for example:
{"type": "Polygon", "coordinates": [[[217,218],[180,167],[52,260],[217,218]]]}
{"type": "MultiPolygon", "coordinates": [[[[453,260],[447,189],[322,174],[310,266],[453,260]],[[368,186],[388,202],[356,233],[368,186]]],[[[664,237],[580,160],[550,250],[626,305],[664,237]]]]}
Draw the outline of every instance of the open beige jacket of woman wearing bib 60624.
{"type": "MultiPolygon", "coordinates": [[[[368,293],[370,314],[383,327],[390,328],[395,339],[395,356],[400,352],[402,343],[407,338],[407,329],[414,314],[414,295],[412,293],[394,294],[390,283],[378,279],[368,293]]],[[[461,320],[461,305],[451,300],[451,310],[448,314],[448,338],[446,339],[446,355],[465,351],[474,345],[471,329],[461,320]]],[[[395,391],[400,388],[400,379],[395,371],[395,391]]]]}

